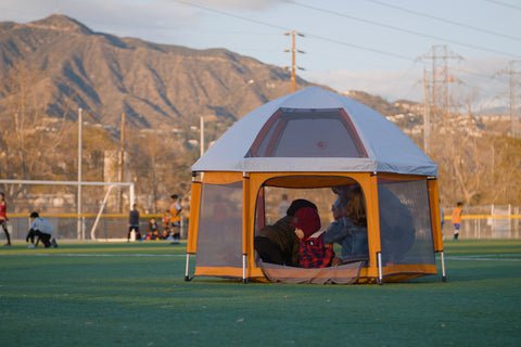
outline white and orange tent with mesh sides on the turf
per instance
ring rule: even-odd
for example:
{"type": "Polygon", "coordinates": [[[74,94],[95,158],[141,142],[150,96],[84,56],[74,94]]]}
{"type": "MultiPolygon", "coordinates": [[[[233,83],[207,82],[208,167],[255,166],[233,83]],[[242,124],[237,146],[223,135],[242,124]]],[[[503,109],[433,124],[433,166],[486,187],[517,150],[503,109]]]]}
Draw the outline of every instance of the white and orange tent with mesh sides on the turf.
{"type": "MultiPolygon", "coordinates": [[[[437,252],[445,280],[436,176],[435,163],[361,103],[318,87],[276,99],[237,121],[192,166],[186,280],[194,256],[193,277],[265,281],[254,236],[268,223],[267,191],[353,184],[365,195],[369,249],[355,282],[436,274],[437,252]]],[[[322,269],[318,283],[343,283],[341,272],[322,269]]]]}

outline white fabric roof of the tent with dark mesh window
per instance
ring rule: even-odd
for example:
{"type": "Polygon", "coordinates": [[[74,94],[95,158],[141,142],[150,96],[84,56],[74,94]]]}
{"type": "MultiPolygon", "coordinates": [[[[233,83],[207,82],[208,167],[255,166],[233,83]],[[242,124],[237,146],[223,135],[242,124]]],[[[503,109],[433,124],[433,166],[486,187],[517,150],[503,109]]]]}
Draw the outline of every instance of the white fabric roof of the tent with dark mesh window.
{"type": "MultiPolygon", "coordinates": [[[[340,123],[339,123],[340,124],[340,123]]],[[[342,128],[342,127],[341,127],[342,128]]],[[[277,131],[277,130],[275,130],[277,131]]],[[[284,130],[285,131],[285,130],[284,130]]],[[[290,131],[290,130],[288,130],[290,131]]],[[[345,131],[345,129],[344,129],[345,131]]],[[[258,141],[258,140],[257,140],[258,141]]],[[[355,146],[353,146],[355,147],[355,146]]],[[[353,151],[352,151],[353,152],[353,151]]],[[[290,154],[288,154],[290,153],[290,154]]],[[[374,110],[352,99],[326,91],[318,87],[309,87],[292,94],[276,99],[252,111],[228,129],[208,151],[192,166],[193,171],[315,171],[315,172],[396,172],[410,175],[436,176],[437,165],[432,162],[399,128],[389,121],[374,110]],[[251,155],[257,136],[264,136],[265,125],[282,112],[298,120],[300,115],[307,115],[306,128],[290,128],[297,138],[283,142],[272,140],[270,145],[291,146],[296,143],[296,151],[310,149],[312,156],[285,154],[275,156],[251,155]],[[347,115],[347,128],[352,128],[356,141],[361,147],[361,155],[342,152],[346,136],[338,131],[338,127],[325,129],[319,121],[328,111],[343,110],[347,115]],[[313,119],[312,119],[313,118],[313,119]],[[296,131],[296,130],[298,131],[296,131]],[[259,134],[260,133],[260,134],[259,134]],[[302,138],[298,138],[302,134],[302,138]],[[333,139],[336,134],[336,138],[333,139]],[[275,144],[274,144],[275,143],[275,144]],[[282,144],[281,144],[282,143],[282,144]],[[329,145],[329,147],[328,147],[329,145]],[[340,149],[339,149],[340,147],[340,149]],[[320,152],[321,151],[321,152],[320,152]]]]}

